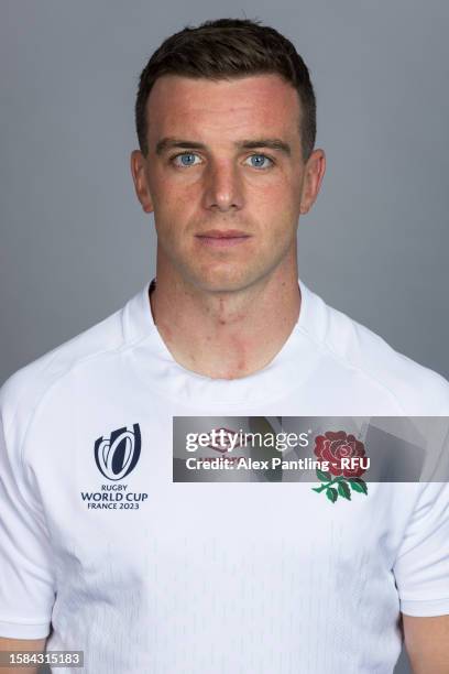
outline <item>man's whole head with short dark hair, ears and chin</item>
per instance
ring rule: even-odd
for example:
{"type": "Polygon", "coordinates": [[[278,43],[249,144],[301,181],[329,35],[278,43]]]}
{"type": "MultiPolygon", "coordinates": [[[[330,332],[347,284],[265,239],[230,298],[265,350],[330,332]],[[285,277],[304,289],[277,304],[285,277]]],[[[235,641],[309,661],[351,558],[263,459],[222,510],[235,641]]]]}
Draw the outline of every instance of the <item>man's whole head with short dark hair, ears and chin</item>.
{"type": "Polygon", "coordinates": [[[184,29],[143,69],[135,121],[131,167],[154,211],[158,267],[232,291],[296,263],[297,220],[325,157],[309,74],[288,40],[249,20],[184,29]]]}

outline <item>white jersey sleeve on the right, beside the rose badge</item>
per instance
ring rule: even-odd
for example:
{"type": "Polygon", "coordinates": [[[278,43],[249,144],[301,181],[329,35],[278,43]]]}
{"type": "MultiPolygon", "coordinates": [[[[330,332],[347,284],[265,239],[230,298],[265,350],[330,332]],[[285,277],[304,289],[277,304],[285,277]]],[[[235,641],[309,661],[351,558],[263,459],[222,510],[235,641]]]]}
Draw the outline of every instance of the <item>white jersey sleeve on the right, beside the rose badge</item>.
{"type": "Polygon", "coordinates": [[[446,436],[432,471],[438,481],[418,483],[418,496],[393,568],[401,611],[407,616],[449,615],[448,459],[446,436]]]}

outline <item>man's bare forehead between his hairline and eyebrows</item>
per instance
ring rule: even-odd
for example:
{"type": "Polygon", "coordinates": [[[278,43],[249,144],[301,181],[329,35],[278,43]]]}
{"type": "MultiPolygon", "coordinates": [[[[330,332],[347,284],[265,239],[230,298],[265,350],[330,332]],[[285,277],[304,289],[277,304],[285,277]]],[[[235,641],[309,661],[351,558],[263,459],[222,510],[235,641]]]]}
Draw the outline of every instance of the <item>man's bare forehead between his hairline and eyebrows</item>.
{"type": "Polygon", "coordinates": [[[236,133],[291,137],[299,116],[296,89],[275,74],[219,80],[164,75],[146,104],[150,139],[186,132],[223,140],[236,133]]]}

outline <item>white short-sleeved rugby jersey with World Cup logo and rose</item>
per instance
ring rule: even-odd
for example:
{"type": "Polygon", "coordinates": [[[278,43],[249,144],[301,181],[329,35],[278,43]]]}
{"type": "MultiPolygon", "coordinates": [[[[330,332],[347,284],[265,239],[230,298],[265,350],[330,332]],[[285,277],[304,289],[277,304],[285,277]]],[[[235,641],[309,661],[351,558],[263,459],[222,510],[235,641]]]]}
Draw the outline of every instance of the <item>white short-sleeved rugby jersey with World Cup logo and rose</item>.
{"type": "Polygon", "coordinates": [[[399,611],[449,612],[448,486],[331,503],[310,483],[174,482],[172,420],[448,416],[449,383],[302,281],[267,367],[202,377],[168,352],[149,286],[1,389],[0,637],[52,626],[47,649],[83,650],[89,674],[391,673],[399,611]],[[122,434],[140,453],[120,474],[122,434]]]}

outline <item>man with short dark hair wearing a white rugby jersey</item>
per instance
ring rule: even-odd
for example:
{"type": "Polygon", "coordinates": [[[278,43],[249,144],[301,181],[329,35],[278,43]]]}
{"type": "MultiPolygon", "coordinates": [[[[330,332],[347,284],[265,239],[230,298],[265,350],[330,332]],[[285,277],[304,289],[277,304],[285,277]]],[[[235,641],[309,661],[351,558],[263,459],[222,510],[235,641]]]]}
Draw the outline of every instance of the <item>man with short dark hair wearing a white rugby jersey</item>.
{"type": "Polygon", "coordinates": [[[303,59],[252,21],[185,29],[144,68],[131,171],[156,279],[2,389],[3,649],[52,628],[91,674],[386,674],[403,630],[416,674],[447,674],[446,485],[343,511],[305,485],[172,479],[175,415],[449,413],[447,381],[298,281],[315,127],[303,59]]]}

